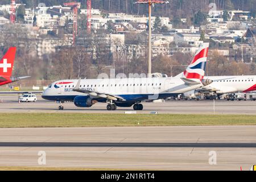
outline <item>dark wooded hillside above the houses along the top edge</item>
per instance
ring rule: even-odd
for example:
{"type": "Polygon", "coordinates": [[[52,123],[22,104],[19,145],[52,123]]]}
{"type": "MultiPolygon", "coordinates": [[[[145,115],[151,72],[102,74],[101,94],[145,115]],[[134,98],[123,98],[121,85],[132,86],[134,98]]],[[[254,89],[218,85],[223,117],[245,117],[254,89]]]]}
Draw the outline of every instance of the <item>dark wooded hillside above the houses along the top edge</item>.
{"type": "MultiPolygon", "coordinates": [[[[46,6],[62,5],[64,2],[73,0],[16,0],[16,3],[26,3],[27,7],[37,6],[39,2],[46,3],[46,6]]],[[[82,3],[82,8],[86,7],[86,0],[78,0],[82,3]]],[[[135,5],[137,0],[93,0],[93,9],[100,9],[109,12],[122,12],[128,14],[147,14],[146,5],[135,5]]],[[[169,0],[168,5],[156,5],[152,14],[159,16],[169,16],[170,18],[192,18],[197,11],[207,13],[209,3],[215,2],[218,10],[240,9],[256,13],[255,0],[169,0]]],[[[0,0],[0,4],[10,3],[10,0],[0,0]]]]}

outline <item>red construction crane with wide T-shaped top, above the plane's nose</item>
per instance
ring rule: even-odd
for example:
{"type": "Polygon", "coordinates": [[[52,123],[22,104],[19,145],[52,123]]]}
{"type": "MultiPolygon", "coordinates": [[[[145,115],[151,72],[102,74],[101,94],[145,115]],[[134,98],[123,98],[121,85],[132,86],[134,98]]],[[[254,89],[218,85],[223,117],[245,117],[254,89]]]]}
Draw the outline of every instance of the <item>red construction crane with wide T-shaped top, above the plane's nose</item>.
{"type": "Polygon", "coordinates": [[[80,2],[67,2],[63,3],[64,6],[70,6],[73,9],[73,45],[76,42],[77,36],[77,9],[80,9],[81,3],[80,2]]]}

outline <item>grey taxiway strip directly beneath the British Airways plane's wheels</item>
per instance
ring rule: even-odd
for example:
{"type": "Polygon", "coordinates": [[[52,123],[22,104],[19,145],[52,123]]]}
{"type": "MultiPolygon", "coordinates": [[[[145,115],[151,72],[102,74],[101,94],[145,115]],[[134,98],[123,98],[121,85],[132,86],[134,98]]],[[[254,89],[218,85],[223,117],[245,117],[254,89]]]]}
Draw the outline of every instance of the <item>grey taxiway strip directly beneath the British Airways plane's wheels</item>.
{"type": "MultiPolygon", "coordinates": [[[[106,110],[105,103],[92,107],[76,107],[73,102],[65,103],[64,110],[58,110],[55,102],[43,100],[34,103],[18,103],[18,95],[0,96],[1,113],[124,113],[133,107],[118,107],[115,111],[106,110]]],[[[256,115],[255,101],[167,101],[164,103],[143,102],[144,109],[138,114],[158,111],[159,114],[250,114],[256,115]]]]}

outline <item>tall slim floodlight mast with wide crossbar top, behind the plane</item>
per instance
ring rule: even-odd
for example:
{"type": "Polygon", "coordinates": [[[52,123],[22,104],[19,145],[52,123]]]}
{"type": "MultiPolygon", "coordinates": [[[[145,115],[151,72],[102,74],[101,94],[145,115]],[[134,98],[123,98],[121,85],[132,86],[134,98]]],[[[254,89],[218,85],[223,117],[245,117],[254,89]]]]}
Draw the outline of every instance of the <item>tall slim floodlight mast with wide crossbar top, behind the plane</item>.
{"type": "Polygon", "coordinates": [[[151,77],[151,8],[154,7],[155,4],[168,4],[169,1],[162,0],[139,0],[135,2],[135,4],[148,4],[148,77],[151,77]]]}

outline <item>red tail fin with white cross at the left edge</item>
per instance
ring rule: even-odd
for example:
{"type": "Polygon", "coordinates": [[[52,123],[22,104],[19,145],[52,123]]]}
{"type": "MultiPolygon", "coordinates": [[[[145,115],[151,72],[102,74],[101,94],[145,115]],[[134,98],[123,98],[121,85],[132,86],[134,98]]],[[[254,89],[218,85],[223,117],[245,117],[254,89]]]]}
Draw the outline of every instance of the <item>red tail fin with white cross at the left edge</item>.
{"type": "Polygon", "coordinates": [[[0,76],[11,77],[15,59],[16,47],[10,47],[0,61],[0,76]]]}

